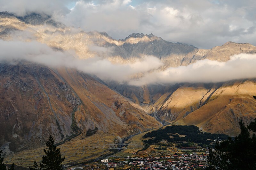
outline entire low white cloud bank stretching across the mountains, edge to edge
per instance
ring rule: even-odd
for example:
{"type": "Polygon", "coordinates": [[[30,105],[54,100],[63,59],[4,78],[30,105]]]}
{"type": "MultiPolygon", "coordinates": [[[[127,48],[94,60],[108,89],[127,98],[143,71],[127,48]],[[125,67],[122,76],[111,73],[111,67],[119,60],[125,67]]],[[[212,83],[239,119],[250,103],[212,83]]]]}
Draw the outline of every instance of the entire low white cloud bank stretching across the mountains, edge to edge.
{"type": "Polygon", "coordinates": [[[227,62],[199,60],[187,67],[170,67],[160,71],[159,68],[163,66],[163,63],[154,56],[145,56],[142,60],[136,60],[133,63],[113,64],[100,57],[78,59],[68,52],[55,51],[37,41],[0,40],[0,51],[0,62],[27,60],[49,67],[65,66],[96,75],[103,80],[114,80],[136,86],[181,82],[209,83],[256,78],[256,54],[233,55],[227,62]],[[131,75],[139,73],[143,73],[144,76],[130,79],[131,75]]]}

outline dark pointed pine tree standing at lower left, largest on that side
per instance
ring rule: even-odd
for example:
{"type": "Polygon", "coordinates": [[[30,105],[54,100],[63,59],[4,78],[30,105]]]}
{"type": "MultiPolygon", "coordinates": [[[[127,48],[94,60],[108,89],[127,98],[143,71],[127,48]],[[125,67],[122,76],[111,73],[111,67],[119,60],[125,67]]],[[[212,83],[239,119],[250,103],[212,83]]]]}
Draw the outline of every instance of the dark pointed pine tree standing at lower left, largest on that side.
{"type": "Polygon", "coordinates": [[[48,150],[46,151],[44,149],[46,155],[42,157],[40,170],[62,170],[61,163],[64,161],[65,157],[61,158],[60,149],[56,149],[52,135],[46,142],[46,146],[48,150]]]}

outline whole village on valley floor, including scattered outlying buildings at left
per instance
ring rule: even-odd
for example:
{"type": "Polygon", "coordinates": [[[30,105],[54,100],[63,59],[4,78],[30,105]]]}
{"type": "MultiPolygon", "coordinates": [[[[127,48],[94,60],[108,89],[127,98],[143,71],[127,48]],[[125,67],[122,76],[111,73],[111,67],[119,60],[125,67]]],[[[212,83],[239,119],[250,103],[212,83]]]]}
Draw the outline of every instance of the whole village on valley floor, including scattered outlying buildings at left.
{"type": "Polygon", "coordinates": [[[181,153],[174,153],[172,155],[165,156],[135,158],[130,156],[117,158],[114,155],[113,157],[110,157],[110,159],[102,159],[99,162],[93,162],[76,167],[67,167],[66,169],[199,170],[207,167],[207,155],[209,154],[208,149],[198,151],[194,147],[183,147],[178,152],[181,153]]]}

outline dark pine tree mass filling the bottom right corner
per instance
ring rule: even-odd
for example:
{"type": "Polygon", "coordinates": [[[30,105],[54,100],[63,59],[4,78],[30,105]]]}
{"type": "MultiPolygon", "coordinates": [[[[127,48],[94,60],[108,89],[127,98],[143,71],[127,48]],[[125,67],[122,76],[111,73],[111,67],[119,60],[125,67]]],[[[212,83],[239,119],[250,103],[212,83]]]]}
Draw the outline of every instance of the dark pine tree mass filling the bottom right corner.
{"type": "Polygon", "coordinates": [[[251,137],[249,133],[249,129],[255,132],[255,124],[256,119],[246,127],[241,120],[241,133],[235,140],[228,138],[220,143],[217,141],[215,152],[209,148],[207,159],[210,166],[207,169],[256,169],[256,135],[254,133],[251,137]]]}

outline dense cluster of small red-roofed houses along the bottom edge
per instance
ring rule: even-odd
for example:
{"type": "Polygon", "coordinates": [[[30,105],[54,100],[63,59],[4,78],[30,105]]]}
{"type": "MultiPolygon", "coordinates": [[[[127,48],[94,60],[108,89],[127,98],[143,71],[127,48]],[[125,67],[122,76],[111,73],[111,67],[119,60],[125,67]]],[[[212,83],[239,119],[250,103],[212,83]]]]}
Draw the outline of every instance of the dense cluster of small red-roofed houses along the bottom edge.
{"type": "MultiPolygon", "coordinates": [[[[115,163],[105,164],[107,167],[122,166],[130,164],[140,167],[140,170],[180,170],[180,169],[195,169],[196,167],[206,168],[205,162],[207,155],[198,155],[196,152],[192,154],[177,154],[172,156],[161,156],[151,158],[126,158],[129,161],[119,161],[115,163]]],[[[102,162],[103,160],[101,160],[102,162]]]]}

